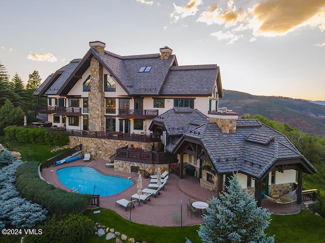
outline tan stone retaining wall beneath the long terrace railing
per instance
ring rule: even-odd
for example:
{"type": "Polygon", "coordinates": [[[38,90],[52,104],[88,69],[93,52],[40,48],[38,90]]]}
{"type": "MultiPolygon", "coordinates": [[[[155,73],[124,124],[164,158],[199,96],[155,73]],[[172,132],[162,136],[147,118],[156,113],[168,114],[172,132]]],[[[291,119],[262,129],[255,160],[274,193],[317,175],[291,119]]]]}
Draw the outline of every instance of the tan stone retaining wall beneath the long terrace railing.
{"type": "MultiPolygon", "coordinates": [[[[134,141],[124,141],[124,140],[114,140],[114,139],[100,139],[100,138],[84,138],[84,137],[74,137],[69,136],[69,145],[71,148],[82,144],[82,152],[90,153],[91,158],[100,158],[108,160],[112,156],[117,148],[121,147],[141,147],[146,152],[151,151],[152,143],[145,142],[134,142],[134,141]]],[[[162,168],[160,168],[162,169],[162,168]]]]}

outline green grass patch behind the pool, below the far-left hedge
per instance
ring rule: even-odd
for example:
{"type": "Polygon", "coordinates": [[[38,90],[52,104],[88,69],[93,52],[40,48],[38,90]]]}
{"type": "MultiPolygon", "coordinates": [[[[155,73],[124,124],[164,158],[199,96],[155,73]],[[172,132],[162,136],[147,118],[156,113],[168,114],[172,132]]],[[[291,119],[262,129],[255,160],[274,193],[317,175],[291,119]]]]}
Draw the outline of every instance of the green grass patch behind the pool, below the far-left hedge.
{"type": "Polygon", "coordinates": [[[47,159],[67,150],[51,152],[55,146],[8,141],[5,137],[0,137],[1,140],[3,140],[4,146],[9,144],[11,150],[20,152],[22,161],[39,161],[44,164],[47,159]]]}

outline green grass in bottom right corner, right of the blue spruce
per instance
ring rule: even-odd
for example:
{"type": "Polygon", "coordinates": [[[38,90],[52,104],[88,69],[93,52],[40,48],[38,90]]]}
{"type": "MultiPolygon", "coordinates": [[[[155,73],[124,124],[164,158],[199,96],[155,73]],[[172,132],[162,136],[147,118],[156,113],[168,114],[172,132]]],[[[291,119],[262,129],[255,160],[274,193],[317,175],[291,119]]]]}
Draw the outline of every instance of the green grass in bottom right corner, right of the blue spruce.
{"type": "Polygon", "coordinates": [[[268,235],[275,234],[276,243],[325,242],[325,219],[302,210],[297,215],[271,215],[268,235]]]}

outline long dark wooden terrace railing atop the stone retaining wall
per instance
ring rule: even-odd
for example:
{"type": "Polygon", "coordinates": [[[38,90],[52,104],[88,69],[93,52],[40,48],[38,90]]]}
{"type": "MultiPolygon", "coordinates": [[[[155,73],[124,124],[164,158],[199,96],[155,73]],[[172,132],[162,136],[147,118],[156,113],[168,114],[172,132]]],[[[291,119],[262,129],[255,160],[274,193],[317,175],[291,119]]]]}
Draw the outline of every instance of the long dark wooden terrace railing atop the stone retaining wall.
{"type": "Polygon", "coordinates": [[[136,142],[158,142],[160,141],[160,135],[158,134],[123,134],[116,132],[96,132],[86,130],[66,130],[69,136],[86,137],[86,138],[103,138],[103,139],[115,139],[125,141],[136,142]]]}

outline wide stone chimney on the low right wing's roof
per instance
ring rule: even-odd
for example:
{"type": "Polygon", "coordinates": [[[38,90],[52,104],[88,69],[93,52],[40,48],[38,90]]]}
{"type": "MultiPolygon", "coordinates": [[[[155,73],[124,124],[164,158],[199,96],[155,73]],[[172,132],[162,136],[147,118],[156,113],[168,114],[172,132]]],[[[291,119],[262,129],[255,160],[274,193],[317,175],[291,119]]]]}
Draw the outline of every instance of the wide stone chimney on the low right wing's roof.
{"type": "Polygon", "coordinates": [[[228,110],[226,107],[218,109],[217,112],[209,111],[208,117],[210,123],[216,123],[224,134],[236,133],[238,113],[228,110]]]}

